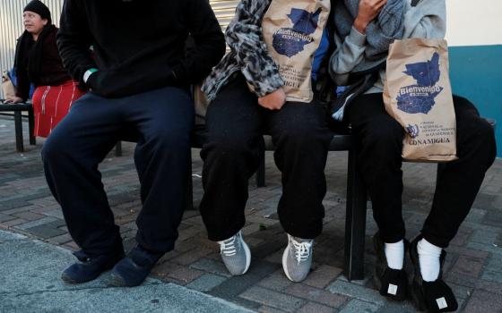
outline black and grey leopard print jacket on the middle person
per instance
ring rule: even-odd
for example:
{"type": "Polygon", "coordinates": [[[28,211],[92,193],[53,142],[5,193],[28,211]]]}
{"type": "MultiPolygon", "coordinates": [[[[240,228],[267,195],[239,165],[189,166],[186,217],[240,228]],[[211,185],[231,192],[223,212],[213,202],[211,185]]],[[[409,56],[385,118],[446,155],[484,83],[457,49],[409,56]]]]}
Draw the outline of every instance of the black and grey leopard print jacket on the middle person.
{"type": "Polygon", "coordinates": [[[230,52],[213,68],[203,83],[202,89],[208,102],[239,71],[258,97],[284,85],[262,34],[262,19],[271,2],[272,0],[241,0],[238,4],[236,14],[225,31],[230,52]]]}

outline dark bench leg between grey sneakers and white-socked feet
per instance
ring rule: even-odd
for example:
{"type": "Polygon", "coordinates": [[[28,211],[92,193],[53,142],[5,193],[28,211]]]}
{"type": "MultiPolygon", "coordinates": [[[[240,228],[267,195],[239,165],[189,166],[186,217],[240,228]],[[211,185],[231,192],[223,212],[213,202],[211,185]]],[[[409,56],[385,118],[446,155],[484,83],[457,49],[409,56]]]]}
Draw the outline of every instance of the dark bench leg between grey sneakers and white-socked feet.
{"type": "Polygon", "coordinates": [[[349,151],[347,212],[345,219],[345,275],[349,280],[364,278],[367,192],[359,173],[357,148],[349,151]]]}

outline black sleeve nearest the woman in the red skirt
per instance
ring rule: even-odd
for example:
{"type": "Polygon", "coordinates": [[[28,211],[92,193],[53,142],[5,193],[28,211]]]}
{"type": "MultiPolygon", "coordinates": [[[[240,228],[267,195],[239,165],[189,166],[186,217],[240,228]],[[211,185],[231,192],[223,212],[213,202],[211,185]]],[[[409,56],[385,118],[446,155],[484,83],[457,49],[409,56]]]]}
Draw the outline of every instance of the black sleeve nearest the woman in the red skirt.
{"type": "Polygon", "coordinates": [[[89,23],[78,0],[65,0],[56,41],[65,68],[83,85],[83,73],[97,66],[91,58],[89,23]]]}

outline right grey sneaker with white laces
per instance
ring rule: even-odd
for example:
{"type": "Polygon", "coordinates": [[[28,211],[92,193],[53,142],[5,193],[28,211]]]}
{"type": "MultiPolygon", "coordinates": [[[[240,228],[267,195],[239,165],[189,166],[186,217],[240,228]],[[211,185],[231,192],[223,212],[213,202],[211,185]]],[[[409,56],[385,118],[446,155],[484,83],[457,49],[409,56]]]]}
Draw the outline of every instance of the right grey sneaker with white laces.
{"type": "Polygon", "coordinates": [[[284,274],[292,282],[303,281],[312,266],[313,240],[296,238],[288,234],[288,247],[282,254],[284,274]]]}

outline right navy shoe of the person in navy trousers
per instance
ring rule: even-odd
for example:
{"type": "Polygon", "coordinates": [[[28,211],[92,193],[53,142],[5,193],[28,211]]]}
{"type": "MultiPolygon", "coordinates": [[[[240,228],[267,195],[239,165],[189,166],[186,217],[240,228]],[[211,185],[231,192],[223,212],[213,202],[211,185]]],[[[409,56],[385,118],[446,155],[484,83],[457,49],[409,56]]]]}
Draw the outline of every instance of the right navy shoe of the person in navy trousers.
{"type": "Polygon", "coordinates": [[[120,260],[111,271],[110,284],[117,287],[134,287],[146,279],[151,268],[164,255],[164,253],[154,252],[136,246],[127,257],[120,260]]]}

